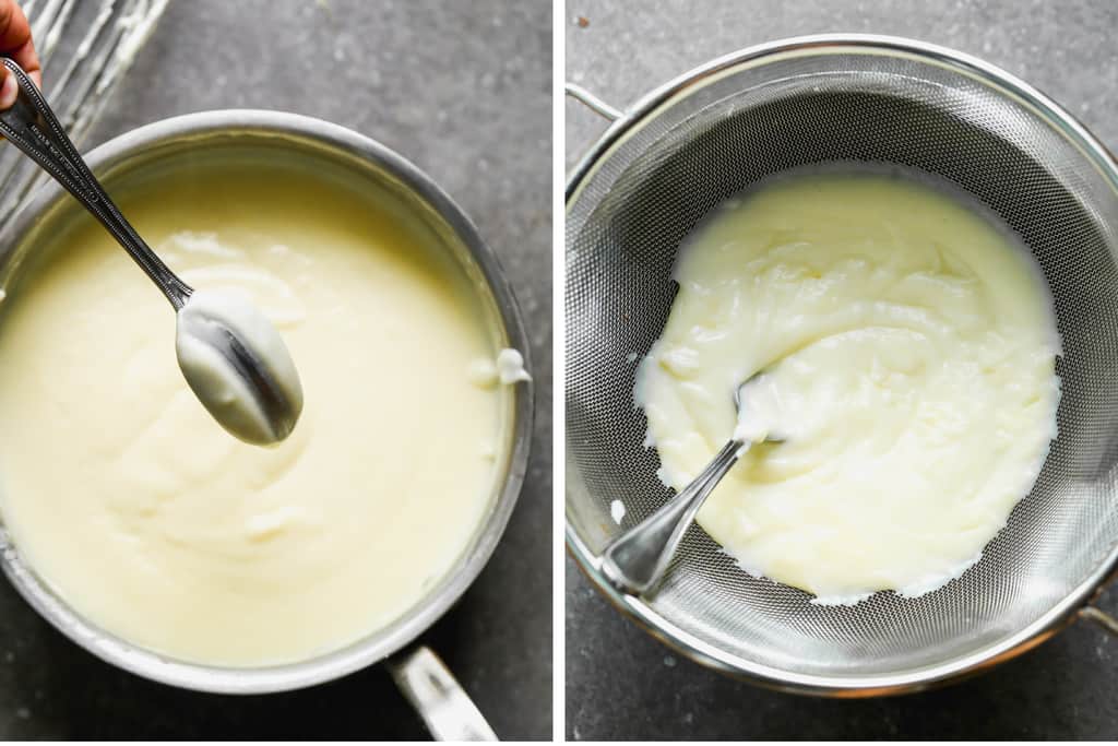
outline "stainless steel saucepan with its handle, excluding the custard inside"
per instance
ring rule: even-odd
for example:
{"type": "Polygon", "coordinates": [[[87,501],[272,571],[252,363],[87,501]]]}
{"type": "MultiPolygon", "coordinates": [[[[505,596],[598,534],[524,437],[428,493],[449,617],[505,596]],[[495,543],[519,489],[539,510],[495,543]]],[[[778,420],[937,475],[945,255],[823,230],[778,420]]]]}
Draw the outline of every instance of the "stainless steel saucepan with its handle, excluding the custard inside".
{"type": "MultiPolygon", "coordinates": [[[[126,183],[149,168],[171,168],[179,159],[206,153],[253,153],[267,159],[302,159],[324,176],[364,180],[390,195],[411,217],[439,237],[473,281],[490,317],[495,349],[522,351],[529,342],[512,289],[501,266],[465,214],[427,176],[388,148],[320,120],[266,111],[216,111],[157,122],[123,134],[87,155],[107,185],[126,183]]],[[[23,255],[80,208],[54,182],[39,188],[0,233],[0,281],[23,255]]],[[[210,692],[259,693],[309,687],[378,661],[419,709],[432,733],[454,739],[492,738],[493,733],[437,657],[426,648],[406,650],[435,623],[477,577],[504,531],[528,463],[532,428],[531,383],[510,388],[504,406],[509,447],[499,463],[487,513],[455,569],[435,584],[392,624],[342,650],[286,665],[234,669],[171,660],[97,629],[77,614],[35,574],[19,547],[0,528],[2,566],[20,594],[47,621],[95,655],[133,673],[164,683],[210,692]],[[401,652],[405,651],[405,652],[401,652]]]]}

